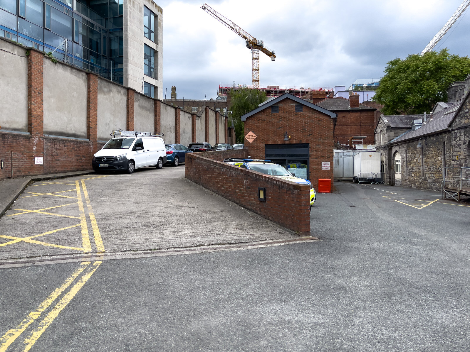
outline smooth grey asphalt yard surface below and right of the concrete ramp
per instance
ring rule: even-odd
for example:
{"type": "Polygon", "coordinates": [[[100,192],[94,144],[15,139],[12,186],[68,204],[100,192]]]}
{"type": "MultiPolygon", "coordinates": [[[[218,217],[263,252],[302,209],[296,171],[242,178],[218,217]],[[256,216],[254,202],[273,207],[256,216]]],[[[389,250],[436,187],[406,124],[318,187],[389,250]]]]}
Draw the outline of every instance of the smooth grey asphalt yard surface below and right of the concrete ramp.
{"type": "Polygon", "coordinates": [[[470,204],[336,187],[321,241],[1,269],[0,352],[467,351],[470,204]]]}

